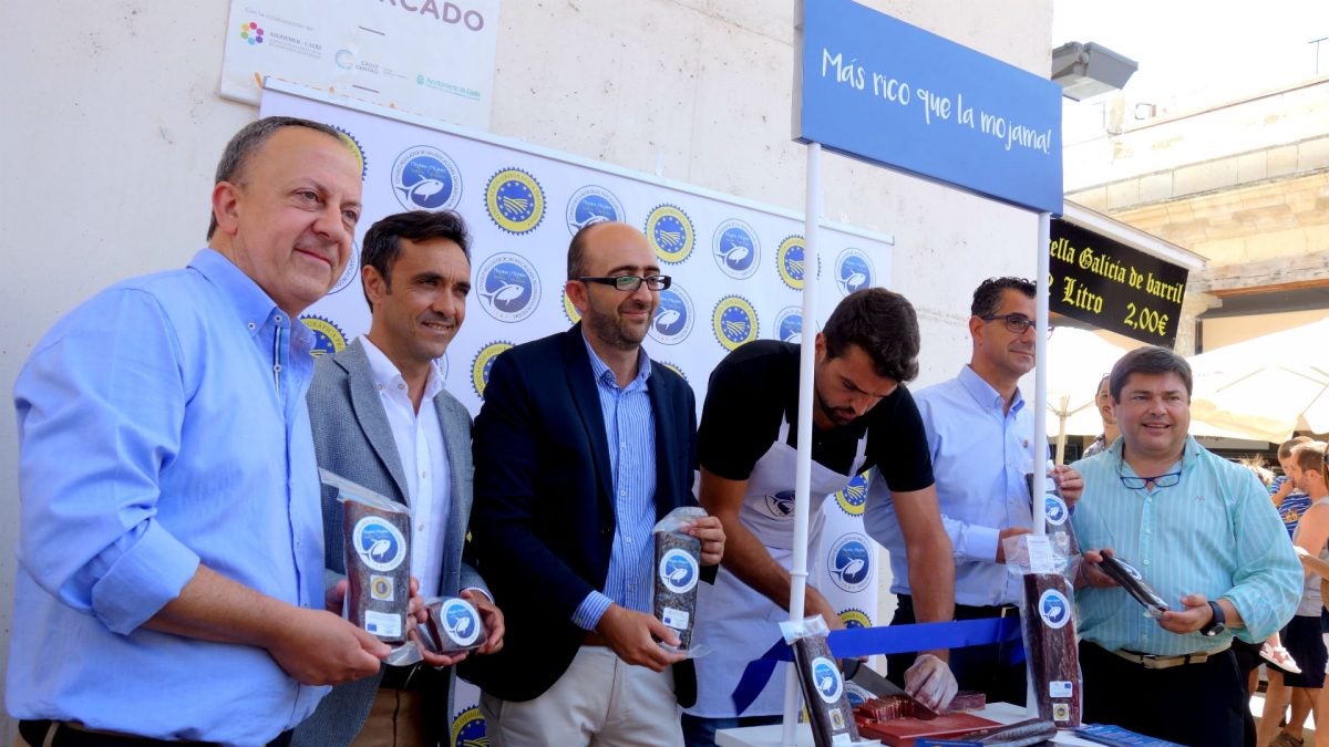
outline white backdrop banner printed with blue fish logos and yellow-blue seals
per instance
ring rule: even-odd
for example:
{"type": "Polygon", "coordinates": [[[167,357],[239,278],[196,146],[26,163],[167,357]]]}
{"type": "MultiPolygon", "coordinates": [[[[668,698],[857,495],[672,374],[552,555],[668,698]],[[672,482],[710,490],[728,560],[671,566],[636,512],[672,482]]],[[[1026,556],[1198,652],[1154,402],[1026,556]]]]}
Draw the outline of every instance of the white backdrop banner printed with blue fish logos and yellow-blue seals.
{"type": "MultiPolygon", "coordinates": [[[[577,320],[563,294],[567,242],[599,219],[639,227],[674,278],[645,347],[687,379],[698,407],[711,370],[731,350],[758,338],[799,340],[807,270],[799,215],[397,112],[332,104],[276,81],[268,86],[262,116],[331,124],[355,141],[364,163],[352,261],[332,292],[302,318],[323,354],[368,330],[358,262],[364,231],[392,213],[439,209],[461,213],[473,237],[473,300],[437,363],[448,391],[472,413],[494,356],[577,320]]],[[[827,226],[821,237],[819,323],[844,295],[888,286],[892,253],[889,237],[844,226],[827,226]]],[[[824,502],[827,528],[812,558],[819,561],[812,584],[853,627],[874,625],[877,609],[878,554],[863,530],[865,494],[860,476],[824,502]]],[[[459,689],[453,744],[474,744],[484,734],[477,702],[474,687],[459,689]]]]}

